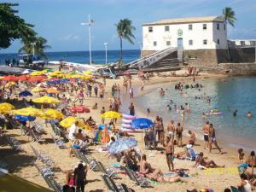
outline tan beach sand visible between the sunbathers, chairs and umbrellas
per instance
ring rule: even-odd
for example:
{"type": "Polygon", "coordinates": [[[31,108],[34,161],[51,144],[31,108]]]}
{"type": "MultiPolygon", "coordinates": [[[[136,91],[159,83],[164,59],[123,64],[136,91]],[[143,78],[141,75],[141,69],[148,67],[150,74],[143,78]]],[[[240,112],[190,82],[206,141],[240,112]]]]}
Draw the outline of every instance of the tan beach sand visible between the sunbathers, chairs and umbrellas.
{"type": "MultiPolygon", "coordinates": [[[[210,74],[201,74],[201,76],[197,78],[223,78],[224,76],[218,75],[210,75],[210,74]]],[[[159,88],[163,83],[169,83],[171,81],[186,81],[191,80],[187,77],[154,77],[150,79],[149,82],[146,83],[143,92],[137,92],[136,96],[142,96],[143,94],[147,93],[152,89],[159,88]]],[[[120,84],[122,87],[122,79],[107,79],[107,88],[106,88],[106,96],[103,100],[96,97],[87,97],[84,101],[84,105],[90,108],[90,113],[82,114],[82,117],[85,119],[92,116],[93,119],[96,119],[97,123],[101,123],[100,118],[100,111],[104,106],[108,109],[108,98],[110,98],[110,90],[112,84],[117,83],[120,84]],[[91,109],[93,104],[98,103],[98,109],[94,110],[91,109]]],[[[132,86],[139,87],[141,86],[141,81],[137,79],[137,77],[133,77],[132,86]]],[[[127,103],[131,102],[130,99],[127,99],[124,103],[123,111],[128,112],[127,103]],[[125,104],[126,103],[126,104],[125,104]]],[[[135,98],[136,100],[136,98],[135,98]]],[[[146,116],[143,111],[146,111],[146,108],[136,108],[137,116],[143,117],[146,116]]],[[[159,114],[161,115],[161,114],[159,114]]],[[[107,121],[108,122],[108,121],[107,121]]],[[[121,119],[118,120],[118,127],[121,125],[121,119]]],[[[12,137],[15,137],[20,143],[22,143],[22,147],[26,150],[26,153],[15,153],[9,145],[6,143],[4,139],[0,139],[0,157],[1,160],[6,162],[9,165],[9,171],[14,173],[17,176],[23,177],[31,182],[38,183],[43,185],[44,187],[48,187],[47,184],[44,182],[43,177],[38,176],[38,171],[33,166],[35,156],[32,153],[30,145],[34,148],[44,151],[46,154],[49,155],[55,161],[55,178],[58,183],[64,184],[65,183],[65,174],[61,172],[73,169],[79,162],[79,160],[75,157],[69,157],[68,149],[61,149],[55,148],[55,144],[53,143],[49,133],[52,130],[47,127],[47,135],[43,137],[46,139],[46,143],[39,144],[39,143],[32,143],[32,141],[28,141],[27,136],[20,136],[20,130],[9,130],[8,134],[12,137]]],[[[160,168],[163,172],[168,172],[168,168],[166,165],[166,157],[165,154],[160,153],[160,145],[158,146],[158,150],[146,150],[144,149],[142,143],[142,133],[136,132],[131,133],[131,137],[134,137],[138,141],[138,147],[142,150],[144,154],[147,154],[148,162],[155,168],[160,168]],[[152,156],[149,154],[153,154],[152,156]]],[[[217,136],[218,137],[218,136],[217,136]]],[[[188,138],[183,138],[183,143],[188,141],[188,138]]],[[[225,188],[230,187],[230,185],[238,185],[240,183],[240,178],[236,174],[236,166],[238,165],[237,154],[235,148],[226,148],[224,143],[220,143],[220,146],[223,148],[223,151],[226,154],[218,154],[217,149],[212,150],[212,154],[209,154],[207,150],[203,149],[203,143],[200,139],[197,140],[197,144],[199,146],[195,146],[196,152],[203,152],[205,156],[208,157],[209,160],[214,160],[218,165],[225,165],[227,168],[224,170],[216,170],[209,174],[209,172],[199,170],[194,168],[195,162],[189,160],[174,160],[175,168],[185,168],[189,169],[189,175],[193,175],[193,177],[184,177],[182,180],[183,182],[179,183],[153,183],[152,188],[140,188],[139,186],[135,185],[131,182],[129,177],[125,176],[124,174],[119,174],[120,179],[116,179],[115,182],[125,183],[130,188],[134,189],[135,191],[186,191],[186,189],[203,189],[203,188],[210,188],[214,189],[214,191],[224,191],[225,188]],[[222,172],[224,171],[224,172],[222,172]]],[[[106,153],[100,153],[96,150],[96,148],[100,148],[100,145],[91,146],[90,147],[90,156],[95,158],[96,160],[101,160],[103,165],[109,167],[111,164],[116,163],[116,160],[111,159],[108,157],[106,153]]],[[[175,148],[175,153],[183,151],[183,148],[175,148]]],[[[85,186],[86,191],[108,191],[102,179],[100,177],[100,172],[93,172],[89,171],[87,175],[88,182],[85,186]]],[[[0,189],[1,191],[1,189],[0,189]]]]}

